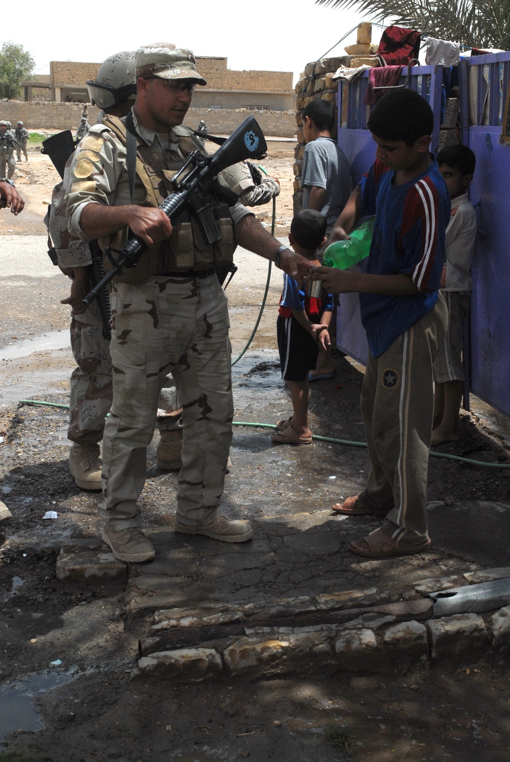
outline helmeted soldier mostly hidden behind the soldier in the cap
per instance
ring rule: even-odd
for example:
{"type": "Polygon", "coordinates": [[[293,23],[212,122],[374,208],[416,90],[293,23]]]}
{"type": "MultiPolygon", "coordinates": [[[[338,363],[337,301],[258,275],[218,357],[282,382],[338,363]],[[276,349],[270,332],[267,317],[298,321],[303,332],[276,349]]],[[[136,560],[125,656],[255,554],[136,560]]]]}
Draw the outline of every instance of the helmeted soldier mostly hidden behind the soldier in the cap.
{"type": "MultiPolygon", "coordinates": [[[[88,83],[91,100],[105,113],[120,117],[130,110],[136,91],[134,51],[115,53],[106,59],[98,72],[98,80],[88,83]]],[[[63,185],[69,172],[66,166],[63,182],[53,189],[49,216],[50,237],[56,249],[61,270],[72,277],[71,295],[63,304],[72,307],[71,347],[77,367],[71,375],[71,399],[68,439],[69,469],[77,486],[88,490],[101,489],[101,463],[98,442],[103,437],[104,421],[111,408],[112,381],[110,341],[104,338],[101,314],[97,303],[85,308],[82,298],[91,289],[91,251],[67,229],[66,200],[63,185]]]]}

